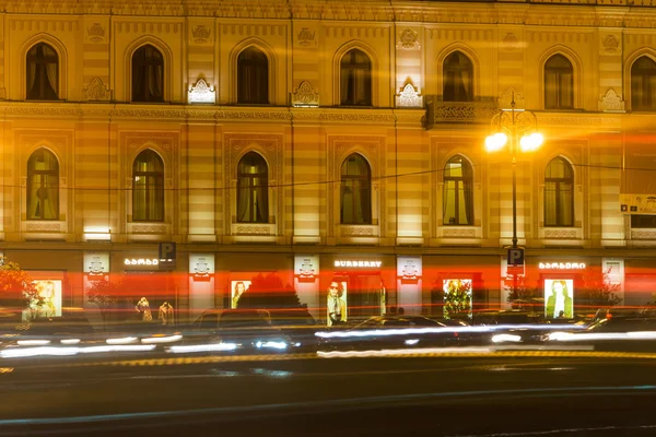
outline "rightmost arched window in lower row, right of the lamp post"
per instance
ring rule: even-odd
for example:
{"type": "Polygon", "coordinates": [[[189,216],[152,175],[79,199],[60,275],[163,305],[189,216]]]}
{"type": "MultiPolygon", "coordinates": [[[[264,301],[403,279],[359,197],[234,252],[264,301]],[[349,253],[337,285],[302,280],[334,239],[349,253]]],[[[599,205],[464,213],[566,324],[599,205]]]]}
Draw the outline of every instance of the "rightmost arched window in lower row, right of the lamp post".
{"type": "Polygon", "coordinates": [[[544,172],[544,226],[574,226],[574,170],[560,156],[544,172]]]}

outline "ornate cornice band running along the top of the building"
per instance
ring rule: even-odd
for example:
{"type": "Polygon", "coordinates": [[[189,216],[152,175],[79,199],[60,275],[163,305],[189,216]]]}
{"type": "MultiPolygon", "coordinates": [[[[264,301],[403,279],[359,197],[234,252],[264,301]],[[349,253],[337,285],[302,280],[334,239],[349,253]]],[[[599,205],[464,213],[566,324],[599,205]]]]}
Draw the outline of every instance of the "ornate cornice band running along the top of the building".
{"type": "Polygon", "coordinates": [[[656,0],[0,0],[0,13],[656,27],[656,0]]]}

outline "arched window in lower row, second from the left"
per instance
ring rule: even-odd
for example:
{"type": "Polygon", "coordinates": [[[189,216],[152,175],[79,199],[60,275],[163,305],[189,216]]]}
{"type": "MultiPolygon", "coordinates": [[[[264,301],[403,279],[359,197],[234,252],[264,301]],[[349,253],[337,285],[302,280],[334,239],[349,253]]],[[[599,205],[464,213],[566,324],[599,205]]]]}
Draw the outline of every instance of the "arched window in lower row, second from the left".
{"type": "Polygon", "coordinates": [[[132,221],[164,221],[164,163],[147,149],[132,167],[132,221]]]}

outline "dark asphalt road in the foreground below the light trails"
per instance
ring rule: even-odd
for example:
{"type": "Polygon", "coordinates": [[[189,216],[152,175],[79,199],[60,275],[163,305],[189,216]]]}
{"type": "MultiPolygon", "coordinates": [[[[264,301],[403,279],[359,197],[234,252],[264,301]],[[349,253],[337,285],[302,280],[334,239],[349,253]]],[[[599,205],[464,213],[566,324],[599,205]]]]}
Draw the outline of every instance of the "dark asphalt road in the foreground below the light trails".
{"type": "Polygon", "coordinates": [[[655,364],[567,352],[4,361],[0,435],[653,436],[655,364]]]}

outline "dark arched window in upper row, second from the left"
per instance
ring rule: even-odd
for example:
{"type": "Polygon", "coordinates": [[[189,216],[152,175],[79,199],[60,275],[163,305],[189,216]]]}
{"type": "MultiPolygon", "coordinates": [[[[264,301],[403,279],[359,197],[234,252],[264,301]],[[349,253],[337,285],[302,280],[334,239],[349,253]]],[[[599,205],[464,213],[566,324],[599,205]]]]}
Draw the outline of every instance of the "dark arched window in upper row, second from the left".
{"type": "Polygon", "coordinates": [[[164,102],[164,57],[150,44],[132,54],[132,102],[164,102]]]}

